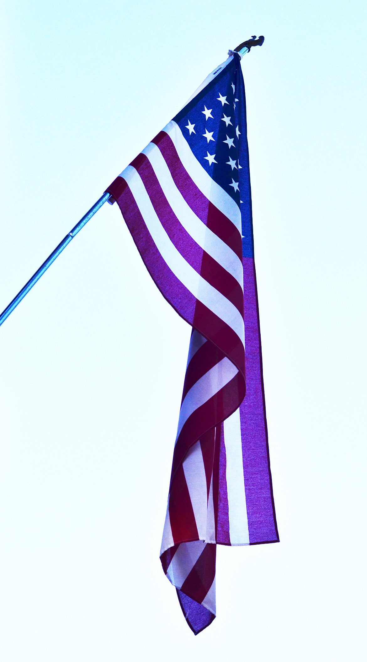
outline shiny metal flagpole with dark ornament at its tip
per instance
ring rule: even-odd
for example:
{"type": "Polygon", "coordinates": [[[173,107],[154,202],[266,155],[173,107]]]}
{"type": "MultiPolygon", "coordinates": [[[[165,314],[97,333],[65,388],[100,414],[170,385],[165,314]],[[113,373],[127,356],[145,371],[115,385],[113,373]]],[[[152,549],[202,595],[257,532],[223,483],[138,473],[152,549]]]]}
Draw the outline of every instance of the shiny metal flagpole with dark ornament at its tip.
{"type": "MultiPolygon", "coordinates": [[[[264,43],[264,37],[259,36],[259,38],[256,38],[256,35],[254,34],[251,39],[248,39],[247,41],[243,42],[242,44],[239,44],[235,50],[229,50],[228,54],[232,55],[234,52],[237,52],[241,57],[245,55],[245,53],[249,53],[250,49],[252,46],[263,46],[264,43]]],[[[110,203],[113,204],[114,200],[112,199],[112,196],[110,196],[109,193],[103,193],[102,197],[97,200],[97,203],[87,211],[87,213],[79,220],[79,223],[77,223],[72,230],[63,238],[62,242],[58,246],[56,246],[55,250],[52,251],[52,254],[48,256],[47,260],[44,261],[44,263],[40,266],[39,269],[37,269],[36,273],[32,275],[32,278],[29,279],[28,283],[22,287],[20,292],[17,294],[16,297],[14,297],[13,301],[9,303],[9,306],[3,310],[3,312],[0,315],[0,326],[5,322],[6,318],[9,317],[11,312],[13,312],[14,308],[17,308],[17,305],[24,299],[25,295],[28,294],[30,289],[32,289],[34,283],[40,279],[41,276],[44,275],[44,272],[47,271],[48,267],[60,256],[60,253],[63,251],[65,246],[71,242],[73,237],[75,237],[75,234],[78,234],[79,230],[85,226],[85,224],[89,221],[92,216],[95,215],[95,213],[101,209],[102,205],[110,199],[110,203]]]]}

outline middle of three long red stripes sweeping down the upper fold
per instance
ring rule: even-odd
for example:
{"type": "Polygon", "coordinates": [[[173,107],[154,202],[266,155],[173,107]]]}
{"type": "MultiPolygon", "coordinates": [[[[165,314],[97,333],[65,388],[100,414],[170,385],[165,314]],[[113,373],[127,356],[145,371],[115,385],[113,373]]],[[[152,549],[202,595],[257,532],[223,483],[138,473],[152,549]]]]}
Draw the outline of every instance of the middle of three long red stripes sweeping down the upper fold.
{"type": "Polygon", "coordinates": [[[243,291],[241,285],[222,265],[208,255],[184,229],[167,201],[157,175],[145,154],[139,154],[131,165],[138,171],[143,185],[153,205],[163,228],[171,242],[176,246],[183,258],[210,285],[215,287],[224,297],[241,312],[243,316],[243,291]]]}

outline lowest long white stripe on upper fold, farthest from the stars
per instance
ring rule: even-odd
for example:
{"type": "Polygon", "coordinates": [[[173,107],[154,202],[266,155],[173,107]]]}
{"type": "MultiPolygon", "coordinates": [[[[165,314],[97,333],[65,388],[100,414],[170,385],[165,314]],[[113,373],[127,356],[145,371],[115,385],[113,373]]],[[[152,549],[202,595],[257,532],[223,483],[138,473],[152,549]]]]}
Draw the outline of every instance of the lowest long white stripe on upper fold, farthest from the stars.
{"type": "Polygon", "coordinates": [[[134,195],[151,238],[165,263],[196,299],[233,329],[243,346],[245,346],[245,326],[241,313],[227,297],[224,297],[215,287],[212,287],[184,260],[155,213],[138,171],[134,167],[128,166],[122,176],[128,183],[132,195],[134,195]]]}

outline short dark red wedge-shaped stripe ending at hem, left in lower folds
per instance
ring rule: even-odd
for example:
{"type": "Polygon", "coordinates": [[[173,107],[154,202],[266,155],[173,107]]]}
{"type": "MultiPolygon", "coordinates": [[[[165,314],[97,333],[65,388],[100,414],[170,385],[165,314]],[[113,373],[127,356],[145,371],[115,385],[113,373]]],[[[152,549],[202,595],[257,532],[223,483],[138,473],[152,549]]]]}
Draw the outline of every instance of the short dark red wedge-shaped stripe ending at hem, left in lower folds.
{"type": "Polygon", "coordinates": [[[182,464],[175,474],[171,489],[168,507],[173,542],[177,544],[189,540],[199,540],[182,464]]]}

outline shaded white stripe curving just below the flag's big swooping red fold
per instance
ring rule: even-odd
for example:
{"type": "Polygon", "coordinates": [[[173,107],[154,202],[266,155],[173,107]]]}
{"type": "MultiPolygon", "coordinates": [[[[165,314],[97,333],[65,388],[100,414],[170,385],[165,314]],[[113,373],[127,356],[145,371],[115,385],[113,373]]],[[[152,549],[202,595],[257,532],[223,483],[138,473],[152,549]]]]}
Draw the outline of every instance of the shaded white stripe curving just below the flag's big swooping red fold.
{"type": "Polygon", "coordinates": [[[181,404],[177,438],[192,412],[204,402],[207,402],[213,395],[216,395],[237,373],[238,370],[235,365],[227,357],[224,357],[222,361],[216,363],[194,383],[190,391],[186,393],[183,404],[181,404]]]}

